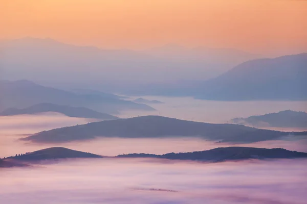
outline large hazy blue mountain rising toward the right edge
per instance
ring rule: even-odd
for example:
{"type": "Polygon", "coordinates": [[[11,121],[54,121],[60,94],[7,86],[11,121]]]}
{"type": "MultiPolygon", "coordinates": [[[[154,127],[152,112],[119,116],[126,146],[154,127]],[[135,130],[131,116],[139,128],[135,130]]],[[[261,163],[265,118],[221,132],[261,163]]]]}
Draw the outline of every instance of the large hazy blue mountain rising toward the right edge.
{"type": "MultiPolygon", "coordinates": [[[[256,59],[210,80],[157,82],[122,89],[128,95],[193,96],[208,100],[306,100],[307,53],[256,59]]],[[[199,72],[200,74],[200,72],[199,72]]],[[[201,75],[201,74],[200,74],[201,75]]]]}

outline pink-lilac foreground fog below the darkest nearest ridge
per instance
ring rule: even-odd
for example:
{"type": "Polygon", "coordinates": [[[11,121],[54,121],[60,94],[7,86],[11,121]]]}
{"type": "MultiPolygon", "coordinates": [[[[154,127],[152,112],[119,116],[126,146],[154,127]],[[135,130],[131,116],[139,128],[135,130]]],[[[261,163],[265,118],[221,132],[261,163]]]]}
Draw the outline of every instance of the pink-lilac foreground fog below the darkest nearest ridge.
{"type": "Polygon", "coordinates": [[[306,160],[85,159],[1,169],[1,203],[264,203],[307,199],[306,160]]]}

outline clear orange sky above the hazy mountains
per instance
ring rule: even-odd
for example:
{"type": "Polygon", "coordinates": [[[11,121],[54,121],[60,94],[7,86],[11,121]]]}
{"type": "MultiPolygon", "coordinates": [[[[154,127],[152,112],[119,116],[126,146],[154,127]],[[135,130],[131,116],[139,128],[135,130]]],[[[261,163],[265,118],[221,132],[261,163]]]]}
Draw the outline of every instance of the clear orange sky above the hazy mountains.
{"type": "Polygon", "coordinates": [[[1,0],[0,39],[142,49],[167,43],[307,52],[307,1],[1,0]]]}

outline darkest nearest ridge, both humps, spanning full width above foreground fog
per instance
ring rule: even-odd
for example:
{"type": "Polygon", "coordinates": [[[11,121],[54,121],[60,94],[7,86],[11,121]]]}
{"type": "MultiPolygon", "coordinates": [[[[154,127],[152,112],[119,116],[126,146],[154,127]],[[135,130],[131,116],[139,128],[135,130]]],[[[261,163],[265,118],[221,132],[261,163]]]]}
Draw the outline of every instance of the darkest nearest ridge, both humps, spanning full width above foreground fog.
{"type": "MultiPolygon", "coordinates": [[[[51,147],[25,154],[0,159],[0,167],[29,166],[32,162],[42,160],[103,158],[100,155],[76,151],[64,147],[51,147]]],[[[253,147],[219,147],[205,151],[185,153],[169,153],[165,155],[127,154],[108,158],[158,158],[169,160],[195,160],[202,162],[239,161],[247,159],[298,159],[307,158],[307,153],[290,151],[282,148],[253,148],[253,147]]]]}

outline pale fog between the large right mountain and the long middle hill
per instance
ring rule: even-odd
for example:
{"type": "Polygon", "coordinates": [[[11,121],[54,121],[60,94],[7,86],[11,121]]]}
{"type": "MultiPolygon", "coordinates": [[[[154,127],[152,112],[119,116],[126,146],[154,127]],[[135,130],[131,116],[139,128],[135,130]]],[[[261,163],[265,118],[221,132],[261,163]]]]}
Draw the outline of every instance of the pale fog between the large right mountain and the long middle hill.
{"type": "MultiPolygon", "coordinates": [[[[263,115],[283,110],[307,112],[307,101],[215,101],[192,97],[135,96],[135,98],[159,100],[164,104],[149,104],[157,111],[124,111],[118,117],[161,115],[183,120],[209,123],[227,123],[232,118],[263,115]]],[[[291,131],[295,131],[293,129],[291,131]]],[[[304,129],[307,130],[307,127],[304,129]]],[[[290,131],[288,129],[287,131],[290,131]]],[[[297,131],[302,131],[297,130],[297,131]]]]}

